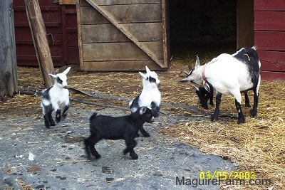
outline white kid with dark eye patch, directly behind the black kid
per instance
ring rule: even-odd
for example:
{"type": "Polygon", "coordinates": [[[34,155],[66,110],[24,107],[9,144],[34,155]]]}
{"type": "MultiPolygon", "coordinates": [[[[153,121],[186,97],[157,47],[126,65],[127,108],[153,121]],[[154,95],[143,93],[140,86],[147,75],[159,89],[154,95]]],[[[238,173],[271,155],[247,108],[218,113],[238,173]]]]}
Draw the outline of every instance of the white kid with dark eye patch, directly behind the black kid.
{"type": "MultiPolygon", "coordinates": [[[[147,71],[145,74],[139,72],[142,77],[142,93],[129,103],[130,112],[135,112],[142,106],[150,107],[153,117],[158,117],[161,94],[157,87],[160,85],[160,80],[155,71],[150,71],[147,66],[145,66],[145,70],[147,71]]],[[[152,121],[153,118],[149,122],[152,121]]],[[[143,127],[140,128],[140,132],[144,137],[150,137],[150,134],[148,134],[143,127]]]]}

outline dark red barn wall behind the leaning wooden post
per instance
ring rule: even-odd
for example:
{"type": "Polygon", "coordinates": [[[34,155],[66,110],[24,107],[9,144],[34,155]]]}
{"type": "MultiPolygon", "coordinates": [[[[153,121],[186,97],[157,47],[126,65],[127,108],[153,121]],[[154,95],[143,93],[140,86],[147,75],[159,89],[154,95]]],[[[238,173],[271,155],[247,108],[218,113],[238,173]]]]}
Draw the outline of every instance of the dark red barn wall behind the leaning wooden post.
{"type": "MultiPolygon", "coordinates": [[[[38,0],[54,66],[79,64],[76,5],[38,0]]],[[[14,0],[17,65],[38,65],[24,0],[14,0]]]]}

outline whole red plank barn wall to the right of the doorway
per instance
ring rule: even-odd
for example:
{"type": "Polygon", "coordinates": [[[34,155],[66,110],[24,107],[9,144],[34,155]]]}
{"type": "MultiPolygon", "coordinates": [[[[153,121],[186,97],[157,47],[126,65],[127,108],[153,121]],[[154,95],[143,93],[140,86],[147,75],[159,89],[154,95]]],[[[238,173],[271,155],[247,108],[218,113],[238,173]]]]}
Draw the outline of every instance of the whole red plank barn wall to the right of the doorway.
{"type": "Polygon", "coordinates": [[[285,1],[254,0],[254,44],[262,80],[285,80],[285,1]]]}

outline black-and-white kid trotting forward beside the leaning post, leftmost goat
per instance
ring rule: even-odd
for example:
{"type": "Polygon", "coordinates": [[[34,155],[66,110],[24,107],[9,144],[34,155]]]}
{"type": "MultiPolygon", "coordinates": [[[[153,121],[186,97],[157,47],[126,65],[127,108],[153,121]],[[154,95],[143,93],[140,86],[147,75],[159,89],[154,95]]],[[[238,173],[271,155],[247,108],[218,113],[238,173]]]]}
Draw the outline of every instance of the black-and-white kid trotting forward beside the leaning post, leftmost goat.
{"type": "Polygon", "coordinates": [[[69,108],[69,91],[66,83],[66,75],[69,70],[71,70],[71,67],[68,67],[63,73],[58,73],[56,75],[48,74],[54,79],[54,85],[43,93],[43,100],[41,102],[46,128],[56,125],[51,116],[53,110],[56,110],[56,122],[61,121],[61,104],[64,105],[62,116],[66,117],[66,112],[69,108]]]}

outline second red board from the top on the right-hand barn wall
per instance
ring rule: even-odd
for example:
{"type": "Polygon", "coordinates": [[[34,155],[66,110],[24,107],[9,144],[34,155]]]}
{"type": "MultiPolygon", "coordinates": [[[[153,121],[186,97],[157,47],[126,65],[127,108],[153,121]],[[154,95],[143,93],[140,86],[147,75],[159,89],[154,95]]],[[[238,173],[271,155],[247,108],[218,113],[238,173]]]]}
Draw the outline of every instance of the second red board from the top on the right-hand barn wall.
{"type": "Polygon", "coordinates": [[[254,30],[285,31],[284,22],[285,11],[254,11],[254,30]]]}

